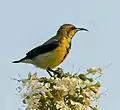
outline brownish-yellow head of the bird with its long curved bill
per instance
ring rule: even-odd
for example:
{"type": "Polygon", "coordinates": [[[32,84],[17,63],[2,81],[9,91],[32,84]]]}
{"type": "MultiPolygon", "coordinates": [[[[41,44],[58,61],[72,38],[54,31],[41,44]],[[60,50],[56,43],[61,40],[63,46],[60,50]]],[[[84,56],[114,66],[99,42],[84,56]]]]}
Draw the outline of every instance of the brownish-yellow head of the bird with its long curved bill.
{"type": "Polygon", "coordinates": [[[75,33],[78,31],[88,31],[88,30],[85,28],[77,28],[72,24],[64,24],[58,29],[57,35],[64,35],[66,37],[72,38],[75,35],[75,33]]]}

